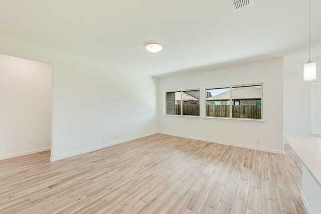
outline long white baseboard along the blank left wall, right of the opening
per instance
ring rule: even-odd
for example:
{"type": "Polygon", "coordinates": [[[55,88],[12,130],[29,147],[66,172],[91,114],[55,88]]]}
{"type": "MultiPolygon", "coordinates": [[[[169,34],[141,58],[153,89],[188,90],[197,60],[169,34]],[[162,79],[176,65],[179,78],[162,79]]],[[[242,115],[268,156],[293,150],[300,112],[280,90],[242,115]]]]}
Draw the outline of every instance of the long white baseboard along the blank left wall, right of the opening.
{"type": "Polygon", "coordinates": [[[89,149],[84,149],[84,150],[81,150],[81,151],[76,151],[76,152],[64,154],[64,155],[61,155],[61,156],[58,156],[58,157],[50,157],[50,161],[54,162],[54,161],[57,161],[57,160],[65,159],[65,158],[68,158],[68,157],[73,157],[73,156],[76,156],[76,155],[79,155],[79,154],[84,154],[84,153],[87,153],[87,152],[96,151],[96,150],[99,150],[99,149],[102,149],[102,148],[106,148],[106,147],[109,147],[109,146],[113,146],[113,145],[117,145],[117,144],[120,144],[120,143],[125,143],[125,142],[131,141],[131,140],[136,140],[138,138],[147,137],[147,136],[150,136],[150,135],[153,135],[153,134],[157,134],[157,133],[158,132],[144,134],[144,135],[140,135],[138,137],[132,137],[132,138],[120,140],[120,141],[117,141],[117,142],[107,143],[107,144],[104,144],[104,145],[101,145],[101,146],[96,146],[96,147],[92,147],[92,148],[89,148],[89,149]]]}

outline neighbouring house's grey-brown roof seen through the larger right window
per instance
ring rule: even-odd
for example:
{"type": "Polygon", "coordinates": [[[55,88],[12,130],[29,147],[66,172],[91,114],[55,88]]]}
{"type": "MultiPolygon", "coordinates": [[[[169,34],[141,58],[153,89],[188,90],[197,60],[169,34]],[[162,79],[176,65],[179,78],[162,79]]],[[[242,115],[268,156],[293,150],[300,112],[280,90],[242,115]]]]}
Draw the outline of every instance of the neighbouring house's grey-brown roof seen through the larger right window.
{"type": "MultiPolygon", "coordinates": [[[[232,89],[232,98],[234,99],[261,99],[261,88],[256,87],[240,87],[232,89]]],[[[206,100],[229,100],[229,91],[209,97],[206,100]]]]}

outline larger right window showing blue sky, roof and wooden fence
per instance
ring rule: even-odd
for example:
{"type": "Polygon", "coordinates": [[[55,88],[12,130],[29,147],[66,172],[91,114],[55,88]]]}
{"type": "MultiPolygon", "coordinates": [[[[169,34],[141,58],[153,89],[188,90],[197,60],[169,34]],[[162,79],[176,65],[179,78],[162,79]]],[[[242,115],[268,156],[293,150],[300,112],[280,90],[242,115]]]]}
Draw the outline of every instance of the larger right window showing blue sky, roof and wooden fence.
{"type": "Polygon", "coordinates": [[[206,89],[207,117],[262,119],[262,84],[206,89]]]}

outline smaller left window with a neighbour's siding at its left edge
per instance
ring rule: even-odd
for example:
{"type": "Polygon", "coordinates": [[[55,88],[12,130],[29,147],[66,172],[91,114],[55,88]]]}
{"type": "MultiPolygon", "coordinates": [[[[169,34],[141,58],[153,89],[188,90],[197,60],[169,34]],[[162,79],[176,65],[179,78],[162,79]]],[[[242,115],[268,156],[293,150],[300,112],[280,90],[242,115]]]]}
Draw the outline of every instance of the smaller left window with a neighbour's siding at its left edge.
{"type": "Polygon", "coordinates": [[[166,92],[166,115],[200,116],[200,90],[166,92]]]}

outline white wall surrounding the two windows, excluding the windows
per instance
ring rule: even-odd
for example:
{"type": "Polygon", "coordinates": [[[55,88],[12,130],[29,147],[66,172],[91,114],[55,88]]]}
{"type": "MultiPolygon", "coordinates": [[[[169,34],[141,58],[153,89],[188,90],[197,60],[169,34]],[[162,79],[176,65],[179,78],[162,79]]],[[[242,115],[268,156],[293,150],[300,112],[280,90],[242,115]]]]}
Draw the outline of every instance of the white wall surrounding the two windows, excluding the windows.
{"type": "Polygon", "coordinates": [[[282,153],[282,90],[283,58],[160,78],[159,130],[178,136],[282,153]],[[261,82],[264,84],[264,122],[203,118],[204,88],[261,82]],[[201,89],[201,118],[163,115],[164,91],[195,88],[201,89]],[[260,145],[256,144],[257,140],[260,140],[260,145]]]}

